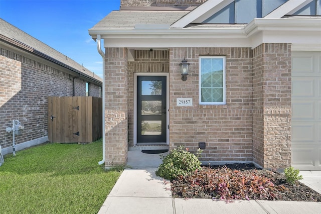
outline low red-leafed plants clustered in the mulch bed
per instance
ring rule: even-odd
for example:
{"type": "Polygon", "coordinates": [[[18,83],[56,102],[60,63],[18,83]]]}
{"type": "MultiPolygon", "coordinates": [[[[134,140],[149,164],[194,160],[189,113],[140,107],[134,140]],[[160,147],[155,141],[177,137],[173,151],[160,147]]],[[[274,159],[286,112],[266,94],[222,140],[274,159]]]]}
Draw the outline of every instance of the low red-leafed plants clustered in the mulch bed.
{"type": "Polygon", "coordinates": [[[174,195],[181,197],[204,197],[206,194],[213,199],[220,198],[226,201],[280,199],[279,193],[286,190],[286,187],[274,185],[268,177],[258,171],[231,170],[225,166],[219,169],[203,167],[194,175],[180,176],[172,181],[172,191],[174,195]]]}

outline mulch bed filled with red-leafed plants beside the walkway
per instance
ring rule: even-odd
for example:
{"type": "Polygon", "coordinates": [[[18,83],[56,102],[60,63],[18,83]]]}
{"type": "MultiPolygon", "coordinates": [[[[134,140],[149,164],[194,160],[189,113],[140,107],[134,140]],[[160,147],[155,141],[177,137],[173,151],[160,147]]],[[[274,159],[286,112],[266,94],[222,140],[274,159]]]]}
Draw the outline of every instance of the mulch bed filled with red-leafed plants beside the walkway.
{"type": "Polygon", "coordinates": [[[290,185],[284,174],[253,164],[203,166],[193,175],[173,180],[171,186],[173,196],[181,198],[321,201],[321,194],[299,181],[290,185]]]}

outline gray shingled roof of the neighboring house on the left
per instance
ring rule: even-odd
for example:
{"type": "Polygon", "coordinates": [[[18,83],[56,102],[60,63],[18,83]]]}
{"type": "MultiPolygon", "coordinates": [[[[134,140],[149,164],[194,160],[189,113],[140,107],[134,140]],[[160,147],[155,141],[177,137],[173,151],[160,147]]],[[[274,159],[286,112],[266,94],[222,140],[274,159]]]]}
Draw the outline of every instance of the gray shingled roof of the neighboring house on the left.
{"type": "Polygon", "coordinates": [[[23,32],[22,30],[16,28],[15,26],[9,24],[3,19],[0,19],[0,34],[12,39],[18,43],[21,43],[23,45],[27,45],[32,49],[35,49],[67,66],[70,66],[80,73],[86,74],[91,79],[98,80],[99,82],[102,82],[102,79],[94,75],[93,73],[85,68],[84,66],[78,64],[74,60],[70,59],[69,57],[66,57],[66,55],[60,53],[59,51],[56,51],[55,49],[51,48],[50,46],[46,45],[45,43],[37,40],[36,38],[30,36],[29,34],[23,32]]]}

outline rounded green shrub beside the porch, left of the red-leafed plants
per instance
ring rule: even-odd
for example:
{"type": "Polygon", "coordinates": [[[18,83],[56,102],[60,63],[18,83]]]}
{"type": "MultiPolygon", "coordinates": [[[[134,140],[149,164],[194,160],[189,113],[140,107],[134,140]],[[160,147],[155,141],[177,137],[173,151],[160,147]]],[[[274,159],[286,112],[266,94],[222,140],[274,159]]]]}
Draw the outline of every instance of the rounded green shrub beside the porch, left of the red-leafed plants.
{"type": "Polygon", "coordinates": [[[186,176],[195,172],[196,169],[201,169],[201,161],[198,159],[201,152],[198,149],[197,156],[195,156],[184,146],[179,146],[166,157],[162,156],[163,163],[159,165],[156,175],[173,180],[180,175],[186,176]]]}

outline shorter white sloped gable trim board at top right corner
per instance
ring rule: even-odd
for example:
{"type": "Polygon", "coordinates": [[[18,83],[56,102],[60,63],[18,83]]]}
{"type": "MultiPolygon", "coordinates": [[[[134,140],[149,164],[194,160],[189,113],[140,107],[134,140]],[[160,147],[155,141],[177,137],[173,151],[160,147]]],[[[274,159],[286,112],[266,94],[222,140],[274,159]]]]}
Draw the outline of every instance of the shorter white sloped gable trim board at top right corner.
{"type": "Polygon", "coordinates": [[[266,19],[279,19],[287,14],[295,13],[296,11],[300,10],[313,0],[289,0],[264,18],[266,19]]]}

